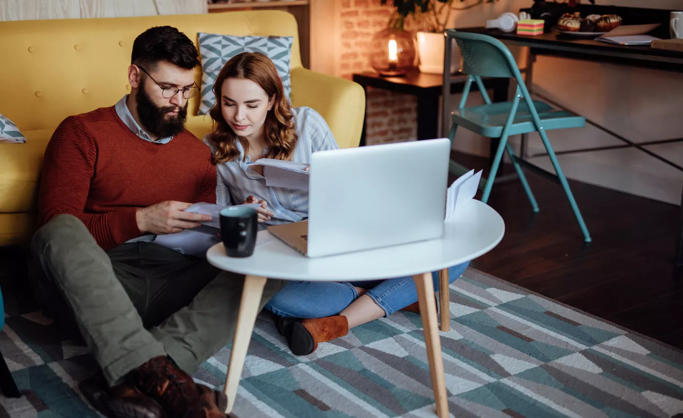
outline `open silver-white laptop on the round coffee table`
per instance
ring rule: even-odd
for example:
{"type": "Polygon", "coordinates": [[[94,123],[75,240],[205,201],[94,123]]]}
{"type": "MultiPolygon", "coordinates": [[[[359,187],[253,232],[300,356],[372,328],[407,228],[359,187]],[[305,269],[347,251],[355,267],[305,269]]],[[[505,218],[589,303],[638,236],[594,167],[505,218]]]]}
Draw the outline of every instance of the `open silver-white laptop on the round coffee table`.
{"type": "Polygon", "coordinates": [[[450,152],[441,138],[313,153],[308,220],[268,231],[309,257],[441,237],[450,152]]]}

